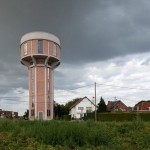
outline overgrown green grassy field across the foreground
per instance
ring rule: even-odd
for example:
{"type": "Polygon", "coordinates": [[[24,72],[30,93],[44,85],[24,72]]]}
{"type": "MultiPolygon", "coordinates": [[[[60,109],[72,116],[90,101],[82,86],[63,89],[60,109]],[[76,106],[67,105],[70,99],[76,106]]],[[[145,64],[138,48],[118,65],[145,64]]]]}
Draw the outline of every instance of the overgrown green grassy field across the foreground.
{"type": "Polygon", "coordinates": [[[0,150],[150,150],[150,122],[0,120],[0,150]]]}

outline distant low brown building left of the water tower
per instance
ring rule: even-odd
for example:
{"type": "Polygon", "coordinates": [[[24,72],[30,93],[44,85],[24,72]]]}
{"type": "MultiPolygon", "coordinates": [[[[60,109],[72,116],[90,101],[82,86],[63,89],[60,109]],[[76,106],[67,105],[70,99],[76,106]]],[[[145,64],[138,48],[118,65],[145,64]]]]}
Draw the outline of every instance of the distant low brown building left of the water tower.
{"type": "Polygon", "coordinates": [[[0,110],[0,118],[18,118],[18,112],[0,110]]]}

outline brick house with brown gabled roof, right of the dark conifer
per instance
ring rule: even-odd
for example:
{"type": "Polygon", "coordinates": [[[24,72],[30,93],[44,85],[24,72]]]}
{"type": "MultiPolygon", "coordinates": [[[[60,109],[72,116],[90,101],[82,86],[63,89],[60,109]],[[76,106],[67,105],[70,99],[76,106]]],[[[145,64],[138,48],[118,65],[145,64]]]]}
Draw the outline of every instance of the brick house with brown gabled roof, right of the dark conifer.
{"type": "Polygon", "coordinates": [[[116,111],[128,112],[128,107],[121,100],[108,101],[107,111],[108,112],[116,112],[116,111]]]}

